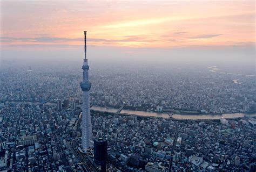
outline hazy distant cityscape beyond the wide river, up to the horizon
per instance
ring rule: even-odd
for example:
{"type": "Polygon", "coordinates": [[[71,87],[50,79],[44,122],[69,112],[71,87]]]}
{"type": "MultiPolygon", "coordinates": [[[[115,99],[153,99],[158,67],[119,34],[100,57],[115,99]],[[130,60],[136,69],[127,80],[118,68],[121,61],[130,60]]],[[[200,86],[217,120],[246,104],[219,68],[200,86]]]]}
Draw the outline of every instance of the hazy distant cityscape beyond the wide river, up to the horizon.
{"type": "MultiPolygon", "coordinates": [[[[77,66],[65,65],[63,69],[53,64],[17,65],[17,68],[11,68],[10,61],[2,65],[6,68],[2,68],[0,74],[1,101],[82,101],[79,63],[77,66]],[[44,70],[45,67],[48,70],[44,70]]],[[[206,64],[173,64],[166,68],[162,65],[163,69],[122,65],[120,68],[91,68],[91,104],[117,108],[124,105],[124,109],[141,111],[157,111],[160,106],[163,111],[176,113],[256,111],[255,76],[215,73],[206,64]]]]}

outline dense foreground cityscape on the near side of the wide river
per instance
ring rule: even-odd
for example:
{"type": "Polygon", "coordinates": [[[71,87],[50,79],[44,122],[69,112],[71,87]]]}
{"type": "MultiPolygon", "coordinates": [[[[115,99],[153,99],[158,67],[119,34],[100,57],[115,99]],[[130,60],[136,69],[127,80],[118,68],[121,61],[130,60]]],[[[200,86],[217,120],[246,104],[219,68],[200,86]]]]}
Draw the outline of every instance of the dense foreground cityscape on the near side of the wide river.
{"type": "MultiPolygon", "coordinates": [[[[0,112],[2,170],[83,171],[70,146],[80,143],[79,108],[4,103],[0,112]]],[[[92,111],[93,137],[107,140],[108,171],[168,171],[170,162],[173,171],[253,171],[255,124],[251,117],[188,121],[92,111]]]]}

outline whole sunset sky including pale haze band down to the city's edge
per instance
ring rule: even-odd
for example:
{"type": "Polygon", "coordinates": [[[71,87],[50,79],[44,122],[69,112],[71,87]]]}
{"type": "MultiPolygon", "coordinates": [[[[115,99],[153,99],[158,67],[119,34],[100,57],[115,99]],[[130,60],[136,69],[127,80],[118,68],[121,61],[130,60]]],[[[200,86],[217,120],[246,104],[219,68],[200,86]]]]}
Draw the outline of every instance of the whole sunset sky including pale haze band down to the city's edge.
{"type": "MultiPolygon", "coordinates": [[[[254,1],[1,1],[1,58],[255,68],[254,1]],[[10,11],[14,11],[10,13],[10,11]]],[[[78,63],[77,63],[78,64],[78,63]]],[[[255,73],[255,70],[254,70],[255,73]]]]}

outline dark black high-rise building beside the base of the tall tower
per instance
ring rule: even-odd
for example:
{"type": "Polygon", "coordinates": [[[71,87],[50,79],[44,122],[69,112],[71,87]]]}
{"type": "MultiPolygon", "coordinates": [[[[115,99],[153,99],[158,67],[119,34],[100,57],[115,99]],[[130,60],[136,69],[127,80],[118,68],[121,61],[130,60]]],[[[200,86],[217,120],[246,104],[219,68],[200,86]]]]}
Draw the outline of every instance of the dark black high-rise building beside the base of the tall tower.
{"type": "Polygon", "coordinates": [[[100,171],[106,171],[107,141],[103,138],[94,140],[94,162],[95,167],[100,171]]]}

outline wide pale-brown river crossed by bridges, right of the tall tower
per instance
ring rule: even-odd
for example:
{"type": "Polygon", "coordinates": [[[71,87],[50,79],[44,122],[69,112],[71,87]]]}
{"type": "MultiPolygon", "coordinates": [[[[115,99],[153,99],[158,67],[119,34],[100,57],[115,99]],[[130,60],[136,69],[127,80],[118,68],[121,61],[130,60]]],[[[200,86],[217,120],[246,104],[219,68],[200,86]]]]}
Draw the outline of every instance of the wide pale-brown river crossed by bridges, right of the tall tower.
{"type": "MultiPolygon", "coordinates": [[[[111,107],[100,107],[92,106],[91,110],[103,111],[103,112],[116,112],[118,109],[111,107]]],[[[137,116],[149,116],[149,117],[160,117],[169,118],[168,113],[157,113],[157,112],[145,112],[136,110],[122,110],[121,114],[134,114],[137,116]]],[[[200,120],[200,119],[221,119],[221,118],[242,118],[247,113],[224,113],[224,114],[173,114],[173,119],[190,119],[190,120],[200,120]]],[[[247,114],[248,116],[256,117],[256,113],[247,114]]]]}

